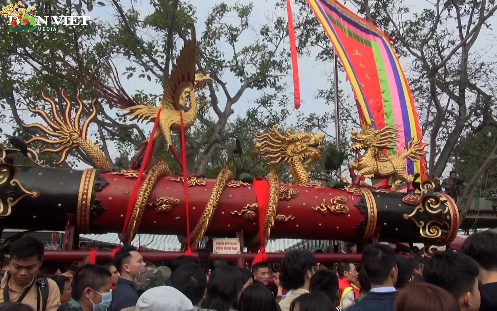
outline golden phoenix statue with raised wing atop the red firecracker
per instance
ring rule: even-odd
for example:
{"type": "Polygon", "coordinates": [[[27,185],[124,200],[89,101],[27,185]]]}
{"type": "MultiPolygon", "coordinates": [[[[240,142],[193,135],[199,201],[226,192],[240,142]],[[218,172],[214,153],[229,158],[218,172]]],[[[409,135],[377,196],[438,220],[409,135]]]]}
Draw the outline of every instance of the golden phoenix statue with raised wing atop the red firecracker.
{"type": "Polygon", "coordinates": [[[164,88],[164,96],[160,106],[151,106],[135,104],[129,107],[123,107],[127,110],[126,115],[131,116],[131,120],[141,119],[148,122],[155,122],[159,109],[162,109],[159,116],[159,127],[153,137],[154,140],[164,135],[167,142],[167,148],[172,145],[171,129],[180,131],[181,120],[180,111],[185,108],[186,100],[189,99],[190,107],[187,112],[183,113],[183,128],[186,130],[195,123],[198,110],[202,109],[206,101],[200,108],[197,105],[195,97],[195,86],[201,88],[204,82],[212,81],[212,78],[203,74],[195,74],[196,64],[196,38],[195,27],[188,24],[187,28],[191,30],[191,39],[185,40],[183,48],[176,58],[176,64],[172,66],[170,78],[164,88]]]}

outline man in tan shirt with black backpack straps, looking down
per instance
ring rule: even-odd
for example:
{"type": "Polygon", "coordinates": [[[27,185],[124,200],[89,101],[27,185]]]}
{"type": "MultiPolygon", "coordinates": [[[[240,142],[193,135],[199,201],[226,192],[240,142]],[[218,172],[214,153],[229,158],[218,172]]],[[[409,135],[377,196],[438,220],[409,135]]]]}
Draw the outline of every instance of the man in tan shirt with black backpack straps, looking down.
{"type": "Polygon", "coordinates": [[[10,246],[10,271],[0,274],[0,307],[19,302],[34,311],[56,311],[61,305],[54,280],[38,276],[45,247],[35,237],[22,237],[10,246]]]}

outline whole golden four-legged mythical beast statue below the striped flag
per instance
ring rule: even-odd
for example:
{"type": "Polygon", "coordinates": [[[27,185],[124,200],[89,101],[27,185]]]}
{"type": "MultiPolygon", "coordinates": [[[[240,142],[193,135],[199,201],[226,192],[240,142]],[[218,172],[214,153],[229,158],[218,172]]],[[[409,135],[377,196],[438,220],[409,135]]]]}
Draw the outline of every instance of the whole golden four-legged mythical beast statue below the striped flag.
{"type": "Polygon", "coordinates": [[[399,131],[391,126],[375,130],[373,125],[374,121],[367,124],[360,132],[352,130],[350,149],[356,153],[364,150],[364,154],[357,162],[349,163],[349,169],[356,170],[357,175],[364,178],[386,179],[390,186],[399,180],[412,183],[414,176],[406,173],[406,159],[419,161],[426,154],[424,148],[428,144],[421,144],[421,140],[413,139],[400,154],[389,155],[388,149],[395,147],[399,131]]]}

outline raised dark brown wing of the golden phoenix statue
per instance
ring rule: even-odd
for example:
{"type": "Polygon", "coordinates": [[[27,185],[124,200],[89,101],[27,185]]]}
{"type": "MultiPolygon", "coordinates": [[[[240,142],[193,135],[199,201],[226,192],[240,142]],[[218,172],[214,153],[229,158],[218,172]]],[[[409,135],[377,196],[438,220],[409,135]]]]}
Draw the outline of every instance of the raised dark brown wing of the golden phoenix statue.
{"type": "Polygon", "coordinates": [[[176,64],[172,65],[171,75],[164,88],[164,97],[161,101],[161,108],[179,110],[184,106],[183,93],[188,89],[193,89],[195,83],[195,62],[196,62],[196,36],[195,26],[187,24],[186,28],[191,30],[191,39],[186,39],[183,48],[176,58],[176,64]]]}

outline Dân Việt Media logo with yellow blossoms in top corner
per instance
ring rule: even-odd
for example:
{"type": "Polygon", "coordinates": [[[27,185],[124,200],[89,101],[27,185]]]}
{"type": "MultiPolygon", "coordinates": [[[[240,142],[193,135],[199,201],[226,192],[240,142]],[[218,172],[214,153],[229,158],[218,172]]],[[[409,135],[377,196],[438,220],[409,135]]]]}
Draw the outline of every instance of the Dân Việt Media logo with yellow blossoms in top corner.
{"type": "Polygon", "coordinates": [[[36,8],[22,1],[10,2],[2,6],[0,15],[8,18],[8,32],[58,32],[60,25],[84,26],[89,16],[38,16],[36,8]]]}

